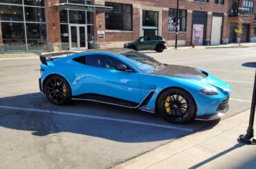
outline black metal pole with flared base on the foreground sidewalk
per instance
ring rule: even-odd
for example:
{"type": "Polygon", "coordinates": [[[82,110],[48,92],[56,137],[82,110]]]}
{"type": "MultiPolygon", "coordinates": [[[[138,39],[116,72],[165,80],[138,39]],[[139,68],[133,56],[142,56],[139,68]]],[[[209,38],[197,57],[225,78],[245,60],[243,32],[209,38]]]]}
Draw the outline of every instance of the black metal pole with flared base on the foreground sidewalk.
{"type": "Polygon", "coordinates": [[[240,135],[239,140],[243,143],[251,144],[256,143],[256,139],[253,139],[253,123],[254,123],[254,117],[255,117],[255,106],[256,106],[256,72],[255,72],[255,79],[254,79],[254,86],[253,86],[253,99],[252,104],[250,108],[250,121],[249,126],[247,129],[246,135],[240,135]]]}

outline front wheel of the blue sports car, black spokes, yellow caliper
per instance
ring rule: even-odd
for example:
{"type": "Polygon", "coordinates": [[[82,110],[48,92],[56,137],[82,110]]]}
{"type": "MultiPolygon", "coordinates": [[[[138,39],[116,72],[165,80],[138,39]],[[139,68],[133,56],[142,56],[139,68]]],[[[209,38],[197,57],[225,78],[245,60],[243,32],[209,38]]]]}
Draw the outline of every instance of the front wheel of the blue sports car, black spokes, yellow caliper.
{"type": "Polygon", "coordinates": [[[188,123],[196,117],[193,97],[179,88],[165,90],[157,101],[157,112],[170,123],[188,123]]]}

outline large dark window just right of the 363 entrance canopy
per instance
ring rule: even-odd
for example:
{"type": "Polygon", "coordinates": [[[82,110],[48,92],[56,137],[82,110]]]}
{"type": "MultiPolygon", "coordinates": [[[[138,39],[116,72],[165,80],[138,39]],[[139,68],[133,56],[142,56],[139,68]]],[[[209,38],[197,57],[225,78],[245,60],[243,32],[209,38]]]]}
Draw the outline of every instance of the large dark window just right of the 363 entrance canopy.
{"type": "Polygon", "coordinates": [[[113,10],[105,13],[107,30],[132,30],[132,6],[121,3],[105,3],[113,10]]]}

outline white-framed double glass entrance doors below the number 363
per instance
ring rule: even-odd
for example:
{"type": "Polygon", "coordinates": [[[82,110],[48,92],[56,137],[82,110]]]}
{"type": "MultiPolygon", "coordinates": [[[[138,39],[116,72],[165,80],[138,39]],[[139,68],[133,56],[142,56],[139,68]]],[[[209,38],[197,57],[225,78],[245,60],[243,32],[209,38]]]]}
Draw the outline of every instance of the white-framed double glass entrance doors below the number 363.
{"type": "Polygon", "coordinates": [[[86,26],[73,25],[69,26],[69,48],[70,50],[87,49],[87,30],[86,26]]]}

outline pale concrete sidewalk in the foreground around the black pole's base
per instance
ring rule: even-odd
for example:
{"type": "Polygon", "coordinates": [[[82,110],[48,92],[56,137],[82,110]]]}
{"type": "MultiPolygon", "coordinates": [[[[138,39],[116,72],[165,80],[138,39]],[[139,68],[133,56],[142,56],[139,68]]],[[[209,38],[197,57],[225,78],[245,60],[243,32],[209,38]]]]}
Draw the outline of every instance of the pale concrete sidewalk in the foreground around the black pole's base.
{"type": "Polygon", "coordinates": [[[250,110],[241,112],[114,168],[256,168],[256,145],[237,141],[246,133],[249,115],[250,110]]]}

